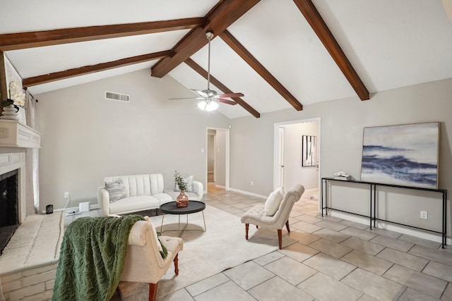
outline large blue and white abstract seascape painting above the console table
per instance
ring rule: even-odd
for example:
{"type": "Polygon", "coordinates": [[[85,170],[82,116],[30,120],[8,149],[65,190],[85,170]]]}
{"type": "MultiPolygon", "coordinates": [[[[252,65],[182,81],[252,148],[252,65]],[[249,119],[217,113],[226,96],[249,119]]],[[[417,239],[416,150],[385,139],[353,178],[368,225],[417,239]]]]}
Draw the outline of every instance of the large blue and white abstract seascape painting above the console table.
{"type": "Polygon", "coordinates": [[[361,180],[438,188],[439,123],[364,128],[361,180]]]}

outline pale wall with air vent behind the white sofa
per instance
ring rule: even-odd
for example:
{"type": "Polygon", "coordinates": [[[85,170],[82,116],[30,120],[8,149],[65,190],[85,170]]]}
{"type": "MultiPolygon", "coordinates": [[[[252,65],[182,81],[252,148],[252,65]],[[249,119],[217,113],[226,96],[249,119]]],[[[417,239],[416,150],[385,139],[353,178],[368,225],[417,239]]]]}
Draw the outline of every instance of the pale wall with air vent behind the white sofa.
{"type": "Polygon", "coordinates": [[[185,90],[169,76],[150,70],[36,95],[42,133],[40,209],[97,203],[105,176],[162,173],[174,187],[174,170],[206,183],[206,128],[229,121],[208,118],[191,99],[168,100],[185,90]],[[105,100],[105,91],[130,94],[130,103],[105,100]]]}

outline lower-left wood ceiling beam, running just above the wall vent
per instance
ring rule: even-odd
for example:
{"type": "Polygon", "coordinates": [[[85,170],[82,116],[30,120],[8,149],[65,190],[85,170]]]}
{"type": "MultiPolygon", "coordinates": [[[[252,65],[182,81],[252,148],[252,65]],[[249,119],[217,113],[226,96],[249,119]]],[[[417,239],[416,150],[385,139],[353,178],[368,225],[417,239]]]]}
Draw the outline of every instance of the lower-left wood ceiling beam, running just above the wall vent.
{"type": "Polygon", "coordinates": [[[23,80],[24,87],[31,87],[35,85],[41,85],[46,82],[54,82],[56,80],[64,80],[65,78],[73,78],[79,75],[85,75],[89,73],[95,73],[99,71],[109,70],[118,67],[129,66],[135,63],[143,63],[146,61],[153,61],[155,59],[161,59],[162,57],[169,56],[170,50],[155,52],[153,54],[143,54],[141,56],[132,56],[126,59],[119,59],[117,61],[109,61],[107,63],[98,63],[91,66],[83,66],[80,68],[73,68],[69,70],[38,75],[32,78],[25,78],[23,80]]]}

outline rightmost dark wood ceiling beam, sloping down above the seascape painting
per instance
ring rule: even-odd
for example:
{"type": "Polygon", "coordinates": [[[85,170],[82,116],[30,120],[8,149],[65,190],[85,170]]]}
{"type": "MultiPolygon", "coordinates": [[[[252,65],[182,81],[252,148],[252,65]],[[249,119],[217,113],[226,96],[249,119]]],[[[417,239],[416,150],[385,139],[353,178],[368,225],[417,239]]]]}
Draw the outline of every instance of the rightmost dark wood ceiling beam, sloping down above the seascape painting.
{"type": "Polygon", "coordinates": [[[297,5],[299,11],[302,12],[304,18],[311,25],[314,32],[316,32],[317,37],[323,43],[323,46],[328,50],[333,60],[338,65],[342,73],[347,78],[350,85],[352,85],[355,92],[358,94],[361,100],[367,100],[370,98],[369,91],[364,86],[361,78],[352,66],[352,63],[345,56],[344,51],[340,48],[335,37],[329,30],[323,18],[320,16],[319,11],[317,11],[316,6],[311,0],[293,0],[297,5]]]}

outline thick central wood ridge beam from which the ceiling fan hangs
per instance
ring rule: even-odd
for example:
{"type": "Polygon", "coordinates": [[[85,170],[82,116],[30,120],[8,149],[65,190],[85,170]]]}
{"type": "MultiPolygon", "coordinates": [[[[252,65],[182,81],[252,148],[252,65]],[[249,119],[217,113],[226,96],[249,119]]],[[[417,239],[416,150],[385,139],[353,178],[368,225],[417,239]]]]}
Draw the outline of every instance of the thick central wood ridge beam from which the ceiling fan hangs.
{"type": "Polygon", "coordinates": [[[196,51],[203,48],[208,40],[206,31],[212,30],[219,35],[223,30],[249,11],[260,0],[224,0],[220,1],[204,18],[201,28],[191,30],[179,43],[173,47],[170,58],[161,59],[151,68],[151,75],[162,78],[180,63],[189,59],[196,51]]]}

